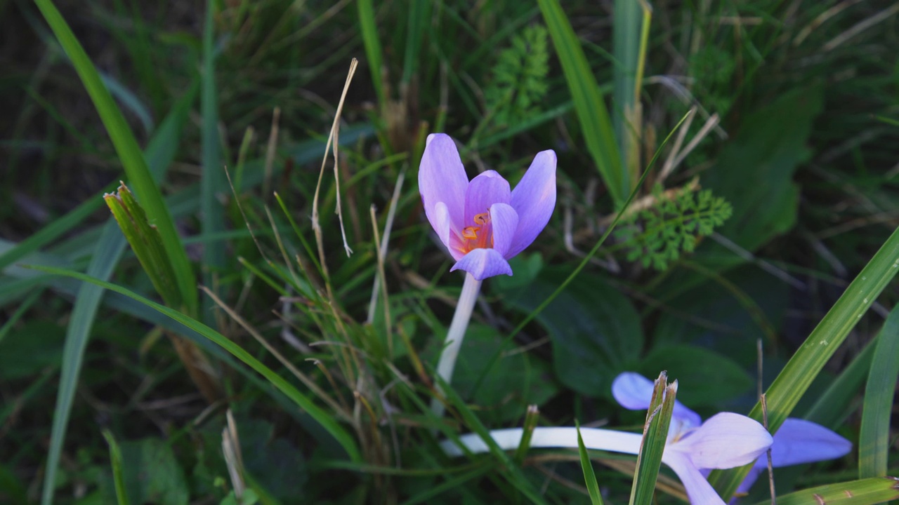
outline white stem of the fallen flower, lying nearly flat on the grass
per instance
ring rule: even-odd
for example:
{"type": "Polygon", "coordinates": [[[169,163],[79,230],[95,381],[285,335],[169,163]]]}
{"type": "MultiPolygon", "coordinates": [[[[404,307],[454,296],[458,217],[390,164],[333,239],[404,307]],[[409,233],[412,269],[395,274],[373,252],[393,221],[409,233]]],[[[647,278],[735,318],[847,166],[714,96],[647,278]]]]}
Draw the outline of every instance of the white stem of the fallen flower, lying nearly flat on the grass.
{"type": "MultiPolygon", "coordinates": [[[[490,437],[503,450],[517,449],[521,444],[521,428],[508,430],[493,430],[490,437]]],[[[599,428],[582,428],[581,436],[583,445],[588,449],[604,450],[610,452],[623,452],[627,454],[639,454],[640,440],[643,436],[639,433],[627,431],[601,430],[599,428]]],[[[470,452],[478,454],[489,452],[484,439],[476,433],[468,433],[458,438],[462,445],[470,452]]],[[[559,447],[577,448],[577,429],[575,428],[537,428],[530,438],[530,447],[559,447]]],[[[441,448],[447,456],[462,456],[462,449],[452,440],[443,440],[441,448]]]]}

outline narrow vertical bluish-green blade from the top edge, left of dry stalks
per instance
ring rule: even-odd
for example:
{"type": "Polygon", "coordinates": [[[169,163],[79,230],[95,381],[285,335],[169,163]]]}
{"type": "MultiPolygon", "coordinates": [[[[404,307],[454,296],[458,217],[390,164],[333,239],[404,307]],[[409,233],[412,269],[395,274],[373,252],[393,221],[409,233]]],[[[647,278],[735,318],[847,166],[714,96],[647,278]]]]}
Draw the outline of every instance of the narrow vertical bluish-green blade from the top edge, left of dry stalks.
{"type": "MultiPolygon", "coordinates": [[[[225,173],[222,168],[221,150],[218,145],[218,99],[216,91],[216,52],[214,47],[214,0],[206,2],[206,24],[203,29],[203,72],[201,76],[200,114],[202,115],[201,146],[202,177],[200,178],[200,229],[203,235],[225,230],[225,209],[218,203],[216,194],[223,190],[225,173]]],[[[203,283],[215,286],[212,271],[225,265],[225,248],[207,244],[203,247],[203,283]]],[[[204,318],[211,318],[211,303],[204,303],[204,318]],[[208,310],[209,309],[209,310],[208,310]]],[[[209,323],[209,320],[207,320],[209,323]]]]}

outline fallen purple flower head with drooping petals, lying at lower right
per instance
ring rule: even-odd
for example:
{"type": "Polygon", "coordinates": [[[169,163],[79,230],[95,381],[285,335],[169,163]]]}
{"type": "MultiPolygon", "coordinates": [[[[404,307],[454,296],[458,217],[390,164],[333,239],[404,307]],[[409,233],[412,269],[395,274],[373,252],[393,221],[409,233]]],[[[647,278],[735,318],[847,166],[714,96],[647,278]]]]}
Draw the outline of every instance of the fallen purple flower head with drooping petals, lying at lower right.
{"type": "MultiPolygon", "coordinates": [[[[653,395],[653,381],[633,372],[622,373],[619,377],[616,377],[615,381],[612,383],[612,395],[615,397],[615,400],[626,409],[645,410],[649,408],[649,402],[653,395]]],[[[674,403],[672,426],[668,432],[668,446],[665,447],[663,461],[665,461],[665,457],[668,456],[669,461],[666,461],[666,463],[671,466],[674,472],[678,474],[678,477],[681,478],[681,482],[687,490],[687,494],[690,496],[691,503],[722,503],[721,499],[717,496],[717,493],[706,481],[704,474],[708,474],[708,470],[712,468],[733,468],[734,466],[747,465],[757,456],[761,456],[761,454],[768,448],[765,447],[761,452],[755,452],[754,450],[746,450],[750,448],[747,447],[747,439],[731,440],[726,445],[718,447],[718,450],[723,451],[723,453],[729,452],[732,458],[736,458],[736,453],[745,453],[746,456],[754,453],[755,456],[748,459],[743,458],[743,462],[736,465],[709,465],[710,463],[717,462],[710,460],[708,454],[697,454],[695,451],[698,446],[696,443],[690,444],[690,439],[695,438],[701,432],[706,432],[706,437],[708,437],[709,430],[715,431],[720,428],[727,428],[726,426],[717,427],[719,421],[716,420],[719,420],[721,416],[724,415],[727,415],[729,419],[734,421],[737,421],[735,418],[743,418],[743,420],[752,421],[745,416],[730,412],[722,412],[709,418],[708,421],[703,423],[701,422],[699,414],[691,411],[681,402],[675,401],[674,403]],[[712,425],[713,421],[715,421],[715,425],[712,425]],[[687,442],[687,444],[683,445],[681,440],[687,442]],[[678,453],[677,456],[674,457],[675,461],[673,462],[669,456],[671,450],[678,453]],[[684,461],[684,459],[690,460],[690,463],[692,463],[692,466],[694,467],[693,469],[698,469],[699,472],[694,472],[693,469],[690,469],[689,472],[684,472],[683,468],[686,466],[686,461],[684,461]]],[[[746,421],[738,422],[744,425],[746,424],[746,421]]],[[[752,422],[758,425],[758,422],[752,422]]],[[[759,426],[761,427],[761,425],[759,426]]],[[[735,428],[736,426],[734,425],[732,429],[735,430],[735,428]]],[[[764,429],[762,428],[762,430],[764,429]]],[[[767,435],[767,431],[765,431],[765,435],[767,435]]],[[[754,437],[757,437],[759,441],[761,441],[761,433],[754,435],[754,437]]],[[[771,465],[775,468],[779,466],[798,465],[801,463],[814,463],[815,461],[840,457],[848,453],[852,448],[852,444],[849,440],[843,439],[832,430],[828,430],[812,421],[793,418],[784,421],[780,426],[780,430],[778,430],[773,437],[773,444],[770,445],[771,465]]],[[[737,494],[748,491],[752,486],[752,483],[758,478],[759,474],[767,468],[768,458],[759,457],[755,461],[755,465],[752,466],[750,473],[743,480],[743,483],[740,484],[737,494]]]]}

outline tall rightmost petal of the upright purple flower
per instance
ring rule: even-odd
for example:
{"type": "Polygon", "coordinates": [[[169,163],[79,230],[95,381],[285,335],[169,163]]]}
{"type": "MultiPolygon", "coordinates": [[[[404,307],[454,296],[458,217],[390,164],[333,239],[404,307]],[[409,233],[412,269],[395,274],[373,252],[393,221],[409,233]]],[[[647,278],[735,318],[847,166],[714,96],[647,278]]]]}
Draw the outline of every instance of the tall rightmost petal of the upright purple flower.
{"type": "Polygon", "coordinates": [[[507,257],[521,253],[547,226],[556,208],[556,153],[547,150],[534,156],[528,172],[512,190],[512,208],[518,213],[518,233],[507,257]]]}

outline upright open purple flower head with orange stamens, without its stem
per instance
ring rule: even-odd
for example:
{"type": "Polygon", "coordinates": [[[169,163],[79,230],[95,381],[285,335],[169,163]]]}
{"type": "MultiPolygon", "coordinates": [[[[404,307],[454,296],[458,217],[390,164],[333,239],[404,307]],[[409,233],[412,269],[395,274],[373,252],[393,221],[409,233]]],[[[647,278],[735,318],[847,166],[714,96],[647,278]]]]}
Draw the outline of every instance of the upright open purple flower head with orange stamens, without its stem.
{"type": "Polygon", "coordinates": [[[456,260],[477,280],[512,275],[509,260],[534,242],[556,207],[556,153],[534,157],[521,182],[493,170],[470,182],[449,136],[428,136],[418,171],[424,213],[456,260]]]}

